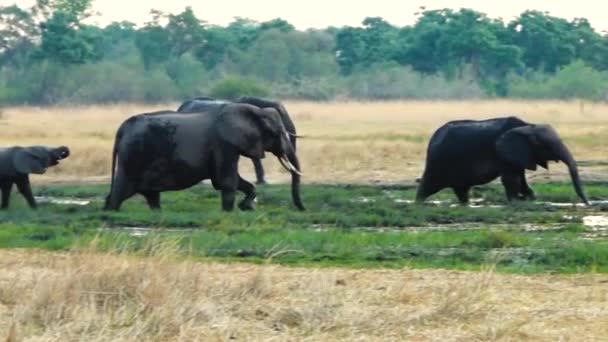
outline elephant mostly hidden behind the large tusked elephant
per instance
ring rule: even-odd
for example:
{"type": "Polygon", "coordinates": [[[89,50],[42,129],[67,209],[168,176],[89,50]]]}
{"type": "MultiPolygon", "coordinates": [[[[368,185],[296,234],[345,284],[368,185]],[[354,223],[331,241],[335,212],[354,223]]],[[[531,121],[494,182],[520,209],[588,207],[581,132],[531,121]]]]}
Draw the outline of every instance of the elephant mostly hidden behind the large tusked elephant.
{"type": "MultiPolygon", "coordinates": [[[[254,105],[259,108],[276,109],[279,112],[279,114],[281,115],[281,120],[283,121],[283,125],[285,126],[285,129],[287,129],[287,132],[290,135],[291,143],[295,149],[296,137],[297,137],[296,127],[295,127],[293,121],[291,120],[289,113],[287,113],[287,109],[285,109],[285,106],[283,106],[283,104],[281,104],[280,102],[277,102],[277,101],[273,101],[273,100],[269,100],[269,99],[265,99],[265,98],[261,98],[261,97],[255,97],[255,96],[241,96],[233,102],[227,101],[227,100],[218,100],[218,99],[214,99],[211,97],[197,97],[197,98],[194,98],[192,100],[187,100],[184,103],[182,103],[179,106],[179,108],[177,109],[177,111],[180,113],[208,111],[208,110],[212,110],[214,108],[218,108],[227,103],[246,103],[246,104],[254,105]]],[[[255,169],[256,183],[257,184],[266,184],[266,178],[264,176],[264,166],[262,165],[262,162],[260,161],[260,159],[257,159],[257,158],[252,158],[251,160],[253,161],[253,166],[255,169]]],[[[293,181],[294,181],[294,179],[292,179],[292,182],[293,181]]]]}

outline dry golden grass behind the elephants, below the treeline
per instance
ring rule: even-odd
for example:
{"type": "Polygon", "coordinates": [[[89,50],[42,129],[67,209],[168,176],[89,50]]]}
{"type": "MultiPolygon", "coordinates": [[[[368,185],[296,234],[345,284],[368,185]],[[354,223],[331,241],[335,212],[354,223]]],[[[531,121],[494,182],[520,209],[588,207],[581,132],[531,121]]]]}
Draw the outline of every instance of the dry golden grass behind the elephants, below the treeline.
{"type": "MultiPolygon", "coordinates": [[[[55,108],[4,108],[0,146],[65,144],[73,154],[63,165],[34,181],[107,181],[111,146],[118,125],[133,114],[166,105],[111,105],[55,108]]],[[[287,102],[305,135],[298,144],[306,182],[412,182],[423,169],[432,132],[452,119],[482,119],[516,114],[531,122],[556,127],[579,160],[603,160],[608,147],[608,104],[560,101],[395,101],[287,102]]],[[[243,174],[253,178],[244,160],[243,174]]],[[[274,158],[265,162],[271,182],[288,175],[274,158]]],[[[603,169],[586,167],[583,178],[596,178],[603,169]]],[[[564,167],[537,172],[561,177],[564,167]]]]}

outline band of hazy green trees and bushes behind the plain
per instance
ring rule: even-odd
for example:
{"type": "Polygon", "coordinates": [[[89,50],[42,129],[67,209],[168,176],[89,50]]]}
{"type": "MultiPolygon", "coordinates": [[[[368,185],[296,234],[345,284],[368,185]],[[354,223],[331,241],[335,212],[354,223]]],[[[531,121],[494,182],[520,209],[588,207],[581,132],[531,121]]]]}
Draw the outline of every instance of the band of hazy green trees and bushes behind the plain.
{"type": "Polygon", "coordinates": [[[186,8],[98,27],[86,23],[91,2],[0,7],[1,103],[608,98],[608,36],[585,19],[422,8],[412,26],[366,18],[301,31],[282,19],[211,25],[186,8]]]}

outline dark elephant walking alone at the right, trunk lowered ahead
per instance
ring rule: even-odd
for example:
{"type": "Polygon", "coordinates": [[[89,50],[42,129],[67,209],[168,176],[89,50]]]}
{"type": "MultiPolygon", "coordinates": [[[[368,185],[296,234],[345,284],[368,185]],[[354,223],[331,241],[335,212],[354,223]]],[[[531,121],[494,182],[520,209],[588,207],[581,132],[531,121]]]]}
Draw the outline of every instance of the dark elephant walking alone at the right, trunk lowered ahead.
{"type": "Polygon", "coordinates": [[[534,171],[537,165],[548,169],[548,161],[562,161],[568,166],[574,190],[589,204],[576,161],[550,125],[528,123],[516,116],[450,121],[429,141],[416,202],[452,188],[459,202],[466,204],[472,186],[498,177],[509,202],[534,199],[525,170],[534,171]]]}

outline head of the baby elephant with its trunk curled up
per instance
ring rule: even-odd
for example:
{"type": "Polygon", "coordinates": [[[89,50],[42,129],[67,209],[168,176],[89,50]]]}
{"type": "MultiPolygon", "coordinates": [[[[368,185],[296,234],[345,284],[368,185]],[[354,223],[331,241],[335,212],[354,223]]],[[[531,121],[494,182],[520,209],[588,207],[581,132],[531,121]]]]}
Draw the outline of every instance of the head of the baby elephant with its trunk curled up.
{"type": "Polygon", "coordinates": [[[66,146],[50,148],[46,146],[17,147],[13,152],[13,163],[18,173],[43,174],[50,166],[59,164],[70,155],[66,146]]]}

